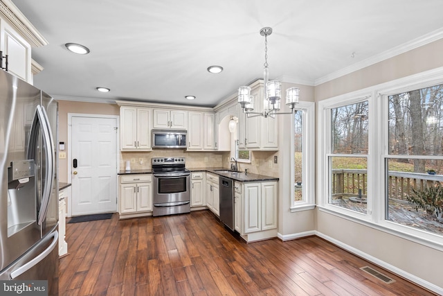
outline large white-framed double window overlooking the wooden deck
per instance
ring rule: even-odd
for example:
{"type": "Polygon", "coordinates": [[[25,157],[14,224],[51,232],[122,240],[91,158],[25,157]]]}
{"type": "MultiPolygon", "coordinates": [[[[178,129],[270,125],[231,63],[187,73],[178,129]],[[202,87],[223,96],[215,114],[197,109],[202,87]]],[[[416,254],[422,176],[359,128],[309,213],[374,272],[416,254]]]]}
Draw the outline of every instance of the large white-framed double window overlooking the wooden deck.
{"type": "Polygon", "coordinates": [[[318,102],[318,207],[443,247],[443,70],[318,102]]]}

